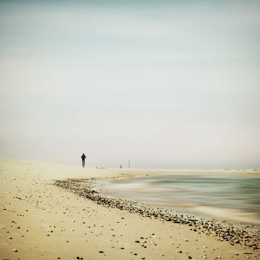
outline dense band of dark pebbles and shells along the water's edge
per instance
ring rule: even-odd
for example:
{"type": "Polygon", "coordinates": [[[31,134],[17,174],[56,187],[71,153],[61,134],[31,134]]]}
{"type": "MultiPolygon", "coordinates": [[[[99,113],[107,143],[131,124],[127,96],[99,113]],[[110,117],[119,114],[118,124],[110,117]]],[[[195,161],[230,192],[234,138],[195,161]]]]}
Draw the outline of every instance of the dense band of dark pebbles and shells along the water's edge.
{"type": "MultiPolygon", "coordinates": [[[[97,180],[97,182],[100,180],[97,180]]],[[[101,180],[102,181],[102,180],[101,180]]],[[[251,232],[255,232],[256,236],[252,236],[251,241],[255,241],[256,238],[260,237],[260,231],[259,226],[251,225],[248,226],[247,224],[241,224],[241,223],[232,223],[227,220],[222,220],[222,223],[219,220],[212,219],[210,217],[204,217],[200,214],[192,214],[192,213],[186,213],[181,212],[179,214],[172,215],[172,212],[170,210],[160,210],[159,208],[155,209],[152,204],[149,205],[146,202],[142,201],[135,201],[135,200],[129,200],[129,199],[121,199],[121,198],[114,198],[114,197],[107,197],[103,195],[100,192],[97,192],[94,187],[91,185],[92,181],[89,181],[88,179],[68,179],[68,180],[56,180],[55,184],[56,186],[68,190],[70,192],[73,192],[83,198],[90,199],[94,202],[96,202],[99,205],[111,207],[111,208],[118,208],[120,210],[126,210],[130,213],[138,213],[141,216],[149,217],[158,219],[159,221],[170,221],[177,224],[183,224],[183,225],[189,225],[190,227],[193,227],[193,231],[197,229],[202,230],[202,232],[208,232],[212,236],[219,237],[221,241],[226,240],[231,245],[234,243],[242,245],[242,243],[238,243],[239,240],[234,239],[234,236],[238,236],[241,233],[246,233],[244,236],[250,237],[252,235],[251,232]],[[86,183],[87,181],[87,183],[86,183]],[[89,186],[87,186],[89,185],[89,186]],[[84,187],[86,186],[86,187],[84,187]],[[148,210],[148,212],[147,212],[148,210]],[[184,217],[184,215],[186,217],[184,217]],[[194,220],[194,215],[196,215],[197,220],[194,220]],[[199,220],[198,220],[199,219],[199,220]],[[206,220],[209,219],[209,220],[206,220]],[[211,222],[211,223],[208,223],[211,222]],[[225,223],[225,224],[223,224],[225,223]],[[242,229],[239,229],[239,226],[242,229]],[[231,229],[232,228],[232,229],[231,229]],[[243,230],[244,228],[248,229],[247,231],[243,230]],[[230,229],[230,232],[226,234],[226,229],[230,229]],[[231,234],[230,234],[231,233],[231,234]]],[[[241,240],[242,242],[242,240],[241,240]]],[[[255,246],[248,246],[247,248],[253,248],[253,249],[260,249],[260,241],[255,244],[255,246]]]]}

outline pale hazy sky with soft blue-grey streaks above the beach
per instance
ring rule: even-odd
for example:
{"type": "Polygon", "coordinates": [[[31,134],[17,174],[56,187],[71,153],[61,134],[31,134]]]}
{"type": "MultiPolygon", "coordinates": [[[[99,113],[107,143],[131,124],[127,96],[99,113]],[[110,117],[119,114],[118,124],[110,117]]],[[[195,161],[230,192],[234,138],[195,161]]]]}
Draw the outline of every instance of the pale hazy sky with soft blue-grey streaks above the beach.
{"type": "Polygon", "coordinates": [[[0,158],[260,168],[259,1],[0,1],[0,158]]]}

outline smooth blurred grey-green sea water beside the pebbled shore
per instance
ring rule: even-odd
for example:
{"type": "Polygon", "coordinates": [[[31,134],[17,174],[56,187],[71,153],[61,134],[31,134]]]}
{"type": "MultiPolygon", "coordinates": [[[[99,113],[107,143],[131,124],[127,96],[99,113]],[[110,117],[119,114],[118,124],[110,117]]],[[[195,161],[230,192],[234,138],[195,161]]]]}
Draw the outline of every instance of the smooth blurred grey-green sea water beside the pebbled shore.
{"type": "Polygon", "coordinates": [[[158,173],[109,180],[100,191],[177,213],[260,226],[260,176],[158,173]]]}

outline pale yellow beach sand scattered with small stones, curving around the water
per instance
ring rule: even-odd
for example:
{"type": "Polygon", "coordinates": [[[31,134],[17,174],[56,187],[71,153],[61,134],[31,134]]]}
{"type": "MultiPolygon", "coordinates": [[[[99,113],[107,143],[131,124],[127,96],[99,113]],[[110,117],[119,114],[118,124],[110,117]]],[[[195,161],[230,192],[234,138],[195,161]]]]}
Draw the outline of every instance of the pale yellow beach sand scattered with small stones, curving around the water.
{"type": "MultiPolygon", "coordinates": [[[[0,259],[259,259],[257,230],[250,231],[244,226],[244,231],[234,237],[239,243],[231,245],[203,225],[194,231],[194,226],[188,224],[121,210],[120,200],[118,205],[109,206],[95,201],[96,195],[90,188],[82,188],[82,179],[158,172],[0,160],[0,259]],[[79,179],[79,184],[75,179],[79,179]],[[60,186],[53,185],[56,180],[61,180],[60,186]],[[68,184],[70,188],[64,189],[68,184]],[[84,192],[86,196],[78,195],[84,192]]],[[[259,171],[226,172],[259,175],[259,171]]],[[[228,229],[226,232],[232,233],[228,229]]]]}

